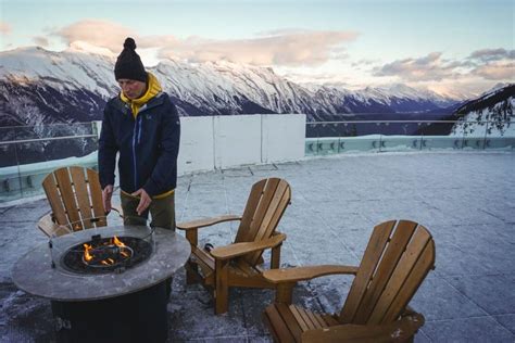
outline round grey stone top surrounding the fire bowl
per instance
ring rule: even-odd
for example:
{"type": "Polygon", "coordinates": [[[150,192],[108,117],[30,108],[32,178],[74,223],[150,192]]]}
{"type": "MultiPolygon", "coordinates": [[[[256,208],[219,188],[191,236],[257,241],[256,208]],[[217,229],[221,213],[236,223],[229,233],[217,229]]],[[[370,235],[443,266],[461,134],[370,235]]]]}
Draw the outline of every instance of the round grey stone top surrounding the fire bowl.
{"type": "MultiPolygon", "coordinates": [[[[131,232],[140,233],[141,228],[113,226],[83,230],[53,239],[53,244],[61,246],[59,254],[63,254],[68,247],[90,240],[92,234],[112,237],[130,236],[131,232]]],[[[65,270],[55,257],[56,266],[52,268],[49,245],[42,243],[16,262],[12,278],[25,292],[53,301],[92,301],[137,292],[172,277],[190,255],[188,241],[174,231],[155,228],[153,240],[153,252],[148,259],[121,274],[96,275],[65,270]]]]}

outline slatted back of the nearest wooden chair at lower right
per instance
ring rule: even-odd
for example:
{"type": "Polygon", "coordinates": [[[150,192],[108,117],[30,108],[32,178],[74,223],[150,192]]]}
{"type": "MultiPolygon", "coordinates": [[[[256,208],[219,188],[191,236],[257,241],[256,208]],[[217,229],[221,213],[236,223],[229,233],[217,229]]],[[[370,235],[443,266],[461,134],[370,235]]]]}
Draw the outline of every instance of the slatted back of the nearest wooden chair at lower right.
{"type": "Polygon", "coordinates": [[[425,227],[410,220],[379,224],[374,228],[339,321],[392,322],[434,266],[435,242],[425,227]]]}

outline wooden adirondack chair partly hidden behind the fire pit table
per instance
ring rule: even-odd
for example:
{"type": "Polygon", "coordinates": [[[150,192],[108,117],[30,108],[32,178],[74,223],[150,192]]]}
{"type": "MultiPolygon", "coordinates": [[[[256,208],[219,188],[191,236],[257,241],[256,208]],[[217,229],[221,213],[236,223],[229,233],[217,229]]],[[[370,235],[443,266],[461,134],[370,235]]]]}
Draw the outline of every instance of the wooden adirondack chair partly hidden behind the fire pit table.
{"type": "MultiPolygon", "coordinates": [[[[42,187],[52,212],[39,219],[38,227],[47,236],[108,225],[99,175],[93,169],[59,168],[43,179],[42,187]]],[[[113,209],[122,215],[121,208],[113,209]]]]}

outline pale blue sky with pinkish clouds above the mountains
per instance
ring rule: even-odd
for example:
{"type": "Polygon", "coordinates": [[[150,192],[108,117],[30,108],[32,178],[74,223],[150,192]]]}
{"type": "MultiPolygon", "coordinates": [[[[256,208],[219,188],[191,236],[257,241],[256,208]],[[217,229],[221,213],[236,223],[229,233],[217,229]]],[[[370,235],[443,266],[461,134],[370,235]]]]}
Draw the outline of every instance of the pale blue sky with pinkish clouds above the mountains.
{"type": "Polygon", "coordinates": [[[478,93],[515,81],[513,0],[0,0],[0,50],[272,66],[300,82],[478,93]]]}

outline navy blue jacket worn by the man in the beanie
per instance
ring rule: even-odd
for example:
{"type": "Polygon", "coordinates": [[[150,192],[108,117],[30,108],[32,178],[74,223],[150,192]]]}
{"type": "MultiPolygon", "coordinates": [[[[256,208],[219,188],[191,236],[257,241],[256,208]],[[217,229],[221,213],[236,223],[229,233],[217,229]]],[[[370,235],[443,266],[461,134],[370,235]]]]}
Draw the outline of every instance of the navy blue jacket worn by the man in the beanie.
{"type": "Polygon", "coordinates": [[[99,139],[99,175],[102,189],[114,185],[120,152],[120,187],[127,193],[143,188],[154,196],[177,186],[180,122],[166,93],[159,93],[139,109],[136,119],[120,97],[104,109],[99,139]]]}

